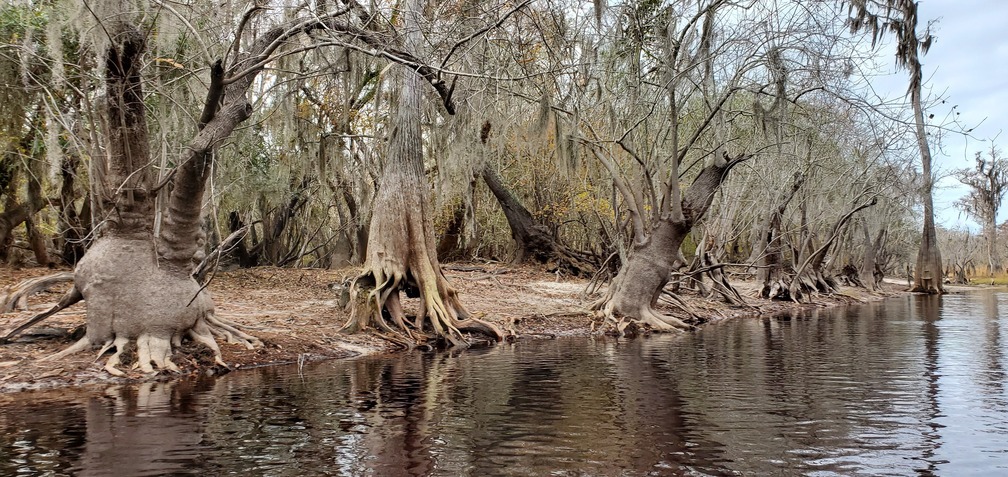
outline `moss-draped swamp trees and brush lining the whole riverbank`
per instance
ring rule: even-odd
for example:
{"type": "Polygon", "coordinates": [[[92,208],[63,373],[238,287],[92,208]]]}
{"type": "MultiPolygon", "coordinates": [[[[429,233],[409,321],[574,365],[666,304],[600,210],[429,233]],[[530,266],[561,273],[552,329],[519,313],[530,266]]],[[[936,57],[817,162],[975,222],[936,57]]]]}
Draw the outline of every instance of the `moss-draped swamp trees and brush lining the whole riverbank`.
{"type": "Polygon", "coordinates": [[[446,258],[590,279],[619,334],[691,329],[685,289],[746,307],[729,278],[941,293],[1002,271],[1005,163],[960,171],[981,238],[935,226],[928,131],[957,125],[929,122],[918,23],[909,0],[8,3],[0,259],[74,268],[30,323],[84,301],[57,356],[114,349],[113,374],[261,345],[215,314],[229,267],[357,266],[345,331],[407,347],[505,337],[446,258]],[[898,104],[868,93],[883,41],[898,104]]]}

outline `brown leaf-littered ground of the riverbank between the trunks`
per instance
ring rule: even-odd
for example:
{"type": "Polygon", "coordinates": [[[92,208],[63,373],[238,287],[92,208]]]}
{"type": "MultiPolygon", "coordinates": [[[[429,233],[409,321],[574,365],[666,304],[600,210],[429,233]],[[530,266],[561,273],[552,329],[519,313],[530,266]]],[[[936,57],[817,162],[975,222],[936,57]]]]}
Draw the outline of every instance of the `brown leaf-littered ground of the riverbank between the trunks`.
{"type": "MultiPolygon", "coordinates": [[[[264,346],[248,350],[222,343],[224,360],[231,370],[303,360],[347,358],[361,354],[392,352],[391,343],[372,334],[347,335],[340,329],[347,313],[339,306],[339,285],[358,270],[251,268],[219,272],[210,284],[217,315],[256,330],[264,346]]],[[[0,268],[0,297],[4,289],[24,279],[54,272],[47,268],[0,268]]],[[[509,339],[552,339],[612,333],[613,327],[589,311],[593,296],[586,296],[589,281],[547,273],[541,268],[503,264],[451,263],[446,275],[459,289],[462,302],[476,317],[493,322],[511,334],[509,339]]],[[[833,295],[816,295],[813,304],[771,302],[755,296],[751,281],[734,281],[750,307],[732,307],[721,300],[706,299],[694,291],[680,293],[686,304],[711,322],[776,315],[808,307],[830,307],[881,300],[903,292],[905,286],[887,282],[880,292],[843,287],[833,295]]],[[[31,316],[54,305],[66,286],[40,292],[28,301],[28,309],[0,315],[0,333],[13,329],[31,316]]],[[[405,303],[415,309],[414,301],[405,303]]],[[[681,316],[675,309],[666,312],[681,316]]],[[[102,369],[104,359],[94,352],[81,352],[58,360],[39,361],[83,334],[85,304],[80,303],[28,329],[13,342],[0,346],[0,392],[41,389],[130,379],[172,379],[161,373],[151,377],[139,370],[127,378],[102,369]]],[[[2,336],[2,335],[0,335],[2,336]]],[[[183,373],[221,373],[225,368],[207,366],[210,353],[196,345],[183,345],[173,361],[183,373]]]]}

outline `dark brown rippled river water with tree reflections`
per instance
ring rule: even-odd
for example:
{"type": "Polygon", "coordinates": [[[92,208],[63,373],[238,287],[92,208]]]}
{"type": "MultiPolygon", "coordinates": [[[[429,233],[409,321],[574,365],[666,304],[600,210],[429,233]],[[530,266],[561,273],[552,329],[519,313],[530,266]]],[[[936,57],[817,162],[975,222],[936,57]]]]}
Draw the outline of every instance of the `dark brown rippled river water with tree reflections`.
{"type": "Polygon", "coordinates": [[[1008,293],[6,395],[0,475],[1008,475],[1008,293]]]}

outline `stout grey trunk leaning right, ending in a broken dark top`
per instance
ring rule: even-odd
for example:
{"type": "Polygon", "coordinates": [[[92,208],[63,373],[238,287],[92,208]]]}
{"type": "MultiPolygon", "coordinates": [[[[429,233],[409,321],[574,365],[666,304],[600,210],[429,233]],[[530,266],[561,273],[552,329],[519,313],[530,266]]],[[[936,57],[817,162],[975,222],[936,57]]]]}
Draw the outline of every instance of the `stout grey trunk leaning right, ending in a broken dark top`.
{"type": "Polygon", "coordinates": [[[710,209],[715,193],[731,168],[747,158],[740,156],[716,161],[701,170],[683,195],[681,218],[661,218],[644,240],[634,244],[626,264],[613,278],[602,300],[593,306],[600,315],[617,323],[621,332],[627,323],[623,319],[649,326],[655,331],[690,328],[677,318],[658,313],[654,306],[668,282],[682,240],[710,209]]]}

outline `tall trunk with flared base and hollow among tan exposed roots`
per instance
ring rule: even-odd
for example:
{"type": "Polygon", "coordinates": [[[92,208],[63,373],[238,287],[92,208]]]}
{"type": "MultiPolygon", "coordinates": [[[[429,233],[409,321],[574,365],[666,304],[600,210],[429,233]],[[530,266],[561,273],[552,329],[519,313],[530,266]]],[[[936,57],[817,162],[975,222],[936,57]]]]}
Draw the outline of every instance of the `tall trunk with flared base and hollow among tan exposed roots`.
{"type": "MultiPolygon", "coordinates": [[[[404,39],[407,46],[415,47],[420,44],[420,10],[416,0],[409,3],[402,12],[404,39]]],[[[420,77],[404,66],[397,65],[393,71],[399,85],[395,123],[371,216],[364,271],[352,286],[355,300],[345,330],[374,327],[407,346],[431,338],[465,345],[465,331],[502,339],[497,327],[471,318],[442,271],[431,223],[430,187],[423,171],[420,77]],[[412,323],[407,323],[400,297],[407,289],[415,289],[421,303],[412,323]]]]}

